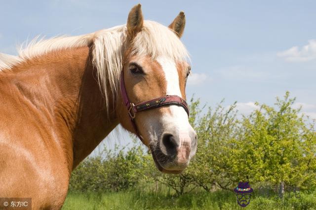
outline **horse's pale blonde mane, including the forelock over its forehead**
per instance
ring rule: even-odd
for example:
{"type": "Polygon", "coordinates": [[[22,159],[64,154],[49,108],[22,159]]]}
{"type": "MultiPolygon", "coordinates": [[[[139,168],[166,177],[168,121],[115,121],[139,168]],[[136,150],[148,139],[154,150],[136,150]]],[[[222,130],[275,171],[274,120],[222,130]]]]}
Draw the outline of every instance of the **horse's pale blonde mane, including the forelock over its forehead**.
{"type": "MultiPolygon", "coordinates": [[[[125,25],[79,36],[60,36],[51,39],[36,38],[19,49],[18,57],[0,54],[0,70],[11,69],[49,52],[61,49],[89,46],[92,44],[93,65],[97,69],[98,82],[102,89],[106,105],[109,105],[107,87],[116,97],[119,90],[119,75],[122,70],[123,53],[126,49],[125,25]]],[[[133,39],[131,54],[150,55],[154,60],[166,56],[174,61],[189,59],[189,54],[180,39],[169,28],[154,22],[144,21],[144,27],[133,39]]]]}

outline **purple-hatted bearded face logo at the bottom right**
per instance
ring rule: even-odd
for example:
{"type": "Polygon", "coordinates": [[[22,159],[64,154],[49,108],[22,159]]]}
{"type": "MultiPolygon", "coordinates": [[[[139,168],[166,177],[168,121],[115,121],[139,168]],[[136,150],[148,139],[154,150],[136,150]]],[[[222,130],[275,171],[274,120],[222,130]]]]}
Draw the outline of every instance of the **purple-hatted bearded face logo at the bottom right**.
{"type": "Polygon", "coordinates": [[[246,207],[250,203],[251,193],[253,192],[249,182],[239,182],[234,191],[237,196],[238,205],[241,207],[246,207]]]}

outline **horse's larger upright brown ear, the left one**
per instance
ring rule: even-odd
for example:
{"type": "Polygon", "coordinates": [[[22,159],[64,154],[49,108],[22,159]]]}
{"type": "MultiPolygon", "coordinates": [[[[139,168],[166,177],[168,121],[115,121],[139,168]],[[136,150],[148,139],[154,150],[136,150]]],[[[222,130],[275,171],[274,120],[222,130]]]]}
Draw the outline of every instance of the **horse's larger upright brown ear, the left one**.
{"type": "Polygon", "coordinates": [[[127,33],[129,38],[133,38],[143,28],[144,18],[142,13],[142,5],[139,3],[134,6],[127,18],[127,33]]]}

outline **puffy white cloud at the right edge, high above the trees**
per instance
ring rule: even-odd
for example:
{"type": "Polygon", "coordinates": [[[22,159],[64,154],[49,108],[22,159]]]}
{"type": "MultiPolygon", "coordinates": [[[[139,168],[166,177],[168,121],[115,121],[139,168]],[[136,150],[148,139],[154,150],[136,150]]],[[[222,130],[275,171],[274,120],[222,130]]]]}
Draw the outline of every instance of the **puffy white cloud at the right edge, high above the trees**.
{"type": "Polygon", "coordinates": [[[288,62],[306,62],[316,59],[316,39],[308,41],[308,44],[299,49],[298,46],[277,53],[278,57],[288,62]]]}

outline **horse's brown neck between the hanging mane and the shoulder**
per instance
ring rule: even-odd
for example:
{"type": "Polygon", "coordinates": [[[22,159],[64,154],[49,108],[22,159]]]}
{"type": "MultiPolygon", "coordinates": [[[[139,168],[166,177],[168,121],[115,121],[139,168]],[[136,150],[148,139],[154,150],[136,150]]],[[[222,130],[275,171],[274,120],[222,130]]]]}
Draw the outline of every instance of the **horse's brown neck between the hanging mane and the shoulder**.
{"type": "Polygon", "coordinates": [[[28,70],[37,83],[29,84],[29,89],[39,93],[26,93],[41,94],[42,103],[49,106],[52,116],[48,117],[53,118],[70,170],[118,125],[113,106],[106,110],[89,57],[88,47],[64,50],[43,57],[44,61],[35,59],[28,70]]]}

